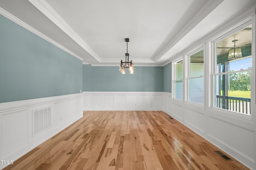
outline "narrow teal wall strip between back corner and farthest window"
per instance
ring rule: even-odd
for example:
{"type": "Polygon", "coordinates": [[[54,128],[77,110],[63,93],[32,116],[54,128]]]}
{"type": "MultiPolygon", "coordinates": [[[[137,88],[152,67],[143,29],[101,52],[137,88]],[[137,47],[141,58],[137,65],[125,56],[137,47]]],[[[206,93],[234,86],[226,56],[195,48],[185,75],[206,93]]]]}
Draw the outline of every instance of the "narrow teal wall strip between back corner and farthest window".
{"type": "Polygon", "coordinates": [[[172,63],[164,66],[164,92],[172,92],[172,63]]]}

